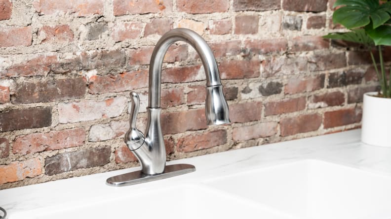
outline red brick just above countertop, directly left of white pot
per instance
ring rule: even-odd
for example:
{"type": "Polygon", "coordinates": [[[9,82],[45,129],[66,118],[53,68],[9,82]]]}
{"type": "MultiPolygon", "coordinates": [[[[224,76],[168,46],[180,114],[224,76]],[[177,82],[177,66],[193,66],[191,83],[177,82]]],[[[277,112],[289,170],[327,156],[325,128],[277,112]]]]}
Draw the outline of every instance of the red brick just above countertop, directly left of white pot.
{"type": "Polygon", "coordinates": [[[324,113],[324,128],[349,125],[361,121],[362,111],[359,108],[335,110],[324,113]]]}

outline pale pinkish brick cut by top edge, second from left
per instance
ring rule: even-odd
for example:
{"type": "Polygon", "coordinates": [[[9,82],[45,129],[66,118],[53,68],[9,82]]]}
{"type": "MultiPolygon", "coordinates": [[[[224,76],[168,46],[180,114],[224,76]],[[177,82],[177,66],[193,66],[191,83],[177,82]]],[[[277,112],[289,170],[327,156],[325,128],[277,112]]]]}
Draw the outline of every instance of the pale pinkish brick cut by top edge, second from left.
{"type": "Polygon", "coordinates": [[[78,17],[103,14],[103,0],[34,0],[33,5],[39,14],[76,13],[78,17]]]}

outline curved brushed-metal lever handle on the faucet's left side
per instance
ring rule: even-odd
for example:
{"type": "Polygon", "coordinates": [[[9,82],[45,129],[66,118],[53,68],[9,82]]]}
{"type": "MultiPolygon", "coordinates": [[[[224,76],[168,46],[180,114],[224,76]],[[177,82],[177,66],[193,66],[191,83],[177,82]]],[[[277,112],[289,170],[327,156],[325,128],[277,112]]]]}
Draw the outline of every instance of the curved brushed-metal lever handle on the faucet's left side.
{"type": "Polygon", "coordinates": [[[140,107],[140,97],[136,92],[130,93],[131,109],[129,125],[130,128],[125,134],[125,143],[131,151],[140,148],[143,145],[145,138],[143,133],[136,127],[137,113],[140,107]]]}

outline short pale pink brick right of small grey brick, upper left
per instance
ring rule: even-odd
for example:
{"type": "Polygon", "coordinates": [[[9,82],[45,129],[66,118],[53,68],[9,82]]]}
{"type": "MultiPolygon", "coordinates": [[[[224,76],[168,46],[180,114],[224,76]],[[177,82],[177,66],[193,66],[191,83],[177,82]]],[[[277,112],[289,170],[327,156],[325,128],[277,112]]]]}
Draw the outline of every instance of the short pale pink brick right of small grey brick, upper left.
{"type": "Polygon", "coordinates": [[[141,22],[117,23],[113,27],[112,37],[116,42],[137,39],[141,36],[141,31],[143,31],[141,22]]]}

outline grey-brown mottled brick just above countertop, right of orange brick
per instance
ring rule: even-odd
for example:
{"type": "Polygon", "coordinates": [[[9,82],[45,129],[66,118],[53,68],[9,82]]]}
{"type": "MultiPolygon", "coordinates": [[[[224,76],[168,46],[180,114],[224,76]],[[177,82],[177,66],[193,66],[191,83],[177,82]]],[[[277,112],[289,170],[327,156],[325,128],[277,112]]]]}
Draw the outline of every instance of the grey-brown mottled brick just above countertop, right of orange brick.
{"type": "Polygon", "coordinates": [[[51,176],[81,168],[103,166],[110,162],[110,155],[110,146],[103,146],[50,156],[45,160],[45,174],[51,176]]]}

